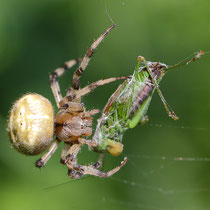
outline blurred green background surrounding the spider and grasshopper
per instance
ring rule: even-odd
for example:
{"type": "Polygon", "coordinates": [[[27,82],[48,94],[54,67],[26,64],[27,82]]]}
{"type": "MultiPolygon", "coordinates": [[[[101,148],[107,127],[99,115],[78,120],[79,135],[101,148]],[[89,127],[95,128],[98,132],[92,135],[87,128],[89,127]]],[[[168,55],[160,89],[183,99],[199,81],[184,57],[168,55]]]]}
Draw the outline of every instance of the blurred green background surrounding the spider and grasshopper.
{"type": "MultiPolygon", "coordinates": [[[[34,167],[40,156],[26,157],[11,149],[5,130],[11,104],[24,93],[36,92],[55,106],[49,72],[83,56],[111,25],[105,4],[117,27],[98,47],[82,86],[132,74],[138,55],[172,65],[200,49],[210,50],[206,0],[1,0],[0,209],[210,208],[209,55],[165,76],[161,89],[180,120],[168,118],[155,93],[150,122],[126,133],[123,156],[129,161],[109,179],[71,182],[59,164],[62,146],[41,170],[34,167]]],[[[62,91],[71,84],[72,72],[59,80],[62,91]]],[[[87,109],[102,109],[118,84],[85,97],[87,109]]],[[[123,156],[107,155],[104,170],[118,165],[123,156]]],[[[80,153],[81,163],[96,158],[87,148],[80,153]]]]}

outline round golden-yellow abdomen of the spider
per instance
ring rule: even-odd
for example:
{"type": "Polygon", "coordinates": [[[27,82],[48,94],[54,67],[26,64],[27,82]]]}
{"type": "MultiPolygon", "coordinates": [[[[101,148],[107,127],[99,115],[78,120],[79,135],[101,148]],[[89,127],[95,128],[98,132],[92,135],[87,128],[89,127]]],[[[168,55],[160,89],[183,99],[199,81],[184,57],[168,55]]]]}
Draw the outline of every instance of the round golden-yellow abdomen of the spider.
{"type": "Polygon", "coordinates": [[[17,100],[8,120],[13,147],[26,155],[42,153],[53,140],[54,112],[50,101],[30,93],[17,100]]]}

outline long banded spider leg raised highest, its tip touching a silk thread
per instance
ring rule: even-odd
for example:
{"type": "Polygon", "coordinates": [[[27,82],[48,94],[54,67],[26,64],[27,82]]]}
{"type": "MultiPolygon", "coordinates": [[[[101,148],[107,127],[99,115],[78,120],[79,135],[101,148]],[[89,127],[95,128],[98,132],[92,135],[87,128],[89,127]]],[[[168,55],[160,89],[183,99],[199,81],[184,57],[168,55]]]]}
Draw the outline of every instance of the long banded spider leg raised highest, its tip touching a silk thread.
{"type": "Polygon", "coordinates": [[[103,41],[105,36],[115,27],[115,25],[111,25],[101,36],[98,37],[96,41],[92,43],[90,48],[87,50],[84,58],[82,59],[82,62],[80,63],[80,66],[78,69],[74,72],[73,75],[73,81],[72,81],[72,88],[73,90],[79,90],[79,78],[81,77],[82,73],[85,71],[93,53],[94,50],[97,48],[97,46],[103,41]]]}

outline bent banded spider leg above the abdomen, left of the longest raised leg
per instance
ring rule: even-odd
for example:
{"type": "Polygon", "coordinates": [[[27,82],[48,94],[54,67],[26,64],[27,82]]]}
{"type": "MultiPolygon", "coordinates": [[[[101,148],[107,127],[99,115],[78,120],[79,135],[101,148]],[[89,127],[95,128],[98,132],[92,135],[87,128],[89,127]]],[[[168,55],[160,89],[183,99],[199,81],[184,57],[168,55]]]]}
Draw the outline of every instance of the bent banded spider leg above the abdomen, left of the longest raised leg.
{"type": "Polygon", "coordinates": [[[70,60],[65,62],[63,67],[57,68],[53,73],[50,74],[50,86],[58,107],[60,107],[59,102],[62,100],[62,94],[60,91],[60,86],[58,84],[58,77],[60,77],[67,69],[73,67],[78,61],[70,60]]]}

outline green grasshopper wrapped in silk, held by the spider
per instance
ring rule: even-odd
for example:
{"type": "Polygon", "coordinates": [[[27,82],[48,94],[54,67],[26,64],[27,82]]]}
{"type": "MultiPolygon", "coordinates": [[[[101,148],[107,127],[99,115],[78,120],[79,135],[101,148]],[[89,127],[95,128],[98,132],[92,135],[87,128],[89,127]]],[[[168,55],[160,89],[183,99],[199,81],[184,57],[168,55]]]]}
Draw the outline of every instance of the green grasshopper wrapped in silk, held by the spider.
{"type": "Polygon", "coordinates": [[[125,131],[148,121],[147,111],[155,90],[169,117],[177,120],[178,117],[165,100],[159,83],[169,70],[196,61],[202,55],[204,51],[171,67],[160,62],[146,61],[139,56],[133,75],[112,94],[98,120],[93,137],[98,146],[93,149],[102,153],[108,151],[112,156],[120,155],[123,151],[121,142],[125,131]]]}

